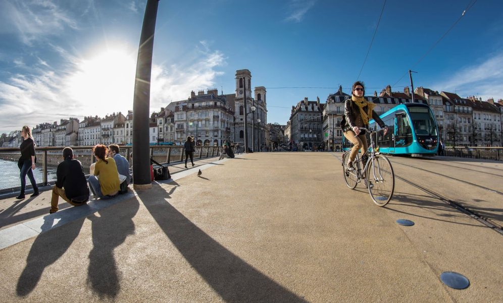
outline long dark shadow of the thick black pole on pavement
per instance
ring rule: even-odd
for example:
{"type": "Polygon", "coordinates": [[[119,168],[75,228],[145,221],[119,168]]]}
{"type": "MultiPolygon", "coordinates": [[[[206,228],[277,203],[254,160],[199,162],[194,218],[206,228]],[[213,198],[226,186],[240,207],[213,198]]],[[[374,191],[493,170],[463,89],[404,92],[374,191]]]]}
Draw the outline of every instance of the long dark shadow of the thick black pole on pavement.
{"type": "MultiPolygon", "coordinates": [[[[171,182],[170,184],[176,184],[171,182]]],[[[164,188],[153,184],[152,190],[164,188]]],[[[167,198],[175,191],[173,187],[167,198]]],[[[227,302],[307,302],[262,274],[190,222],[166,200],[139,193],[150,215],[190,265],[227,302]]]]}

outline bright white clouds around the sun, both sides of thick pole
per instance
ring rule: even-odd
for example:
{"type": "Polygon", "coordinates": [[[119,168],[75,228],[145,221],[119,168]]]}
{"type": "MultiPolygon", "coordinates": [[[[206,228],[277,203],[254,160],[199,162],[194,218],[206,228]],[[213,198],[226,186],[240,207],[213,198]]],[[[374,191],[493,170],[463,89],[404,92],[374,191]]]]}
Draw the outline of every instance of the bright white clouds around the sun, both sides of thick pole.
{"type": "MultiPolygon", "coordinates": [[[[218,67],[225,64],[225,58],[209,49],[208,44],[202,45],[204,51],[194,47],[176,64],[153,65],[151,111],[159,111],[171,100],[186,99],[191,90],[214,87],[216,77],[222,75],[218,67]]],[[[17,74],[0,81],[0,130],[68,117],[103,117],[133,108],[134,52],[119,47],[122,53],[104,51],[97,57],[77,58],[61,47],[53,47],[67,60],[69,68],[53,70],[40,58],[37,67],[30,69],[32,74],[17,74]]]]}

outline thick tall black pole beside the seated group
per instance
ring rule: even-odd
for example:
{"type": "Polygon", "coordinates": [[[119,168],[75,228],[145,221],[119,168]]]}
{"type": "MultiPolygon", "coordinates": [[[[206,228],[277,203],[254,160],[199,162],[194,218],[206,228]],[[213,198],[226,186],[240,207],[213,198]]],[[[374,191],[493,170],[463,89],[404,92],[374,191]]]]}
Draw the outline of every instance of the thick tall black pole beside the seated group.
{"type": "Polygon", "coordinates": [[[150,116],[148,112],[150,108],[150,73],[152,71],[152,53],[154,51],[158,5],[159,0],[147,0],[136,62],[133,99],[133,187],[135,189],[152,188],[148,141],[150,116]]]}

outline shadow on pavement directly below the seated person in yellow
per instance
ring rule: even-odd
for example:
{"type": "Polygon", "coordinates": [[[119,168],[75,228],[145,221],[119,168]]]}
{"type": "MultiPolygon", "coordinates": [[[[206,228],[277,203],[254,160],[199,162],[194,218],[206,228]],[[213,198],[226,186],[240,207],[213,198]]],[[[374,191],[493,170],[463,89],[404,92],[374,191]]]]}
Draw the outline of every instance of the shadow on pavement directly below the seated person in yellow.
{"type": "Polygon", "coordinates": [[[121,201],[87,217],[91,221],[92,244],[89,252],[87,284],[100,299],[115,298],[120,291],[121,273],[117,269],[114,249],[128,235],[134,234],[133,217],[139,209],[135,198],[121,201]]]}

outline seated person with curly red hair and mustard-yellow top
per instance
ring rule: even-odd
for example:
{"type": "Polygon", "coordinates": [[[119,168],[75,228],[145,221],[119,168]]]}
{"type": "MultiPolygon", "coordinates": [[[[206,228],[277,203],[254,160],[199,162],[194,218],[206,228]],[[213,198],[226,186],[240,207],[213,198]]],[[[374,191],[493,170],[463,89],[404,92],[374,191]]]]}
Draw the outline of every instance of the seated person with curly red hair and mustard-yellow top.
{"type": "Polygon", "coordinates": [[[120,181],[117,165],[114,158],[108,156],[108,147],[97,144],[92,148],[92,153],[96,158],[94,171],[89,176],[89,187],[92,193],[102,199],[109,199],[119,193],[120,181]]]}

